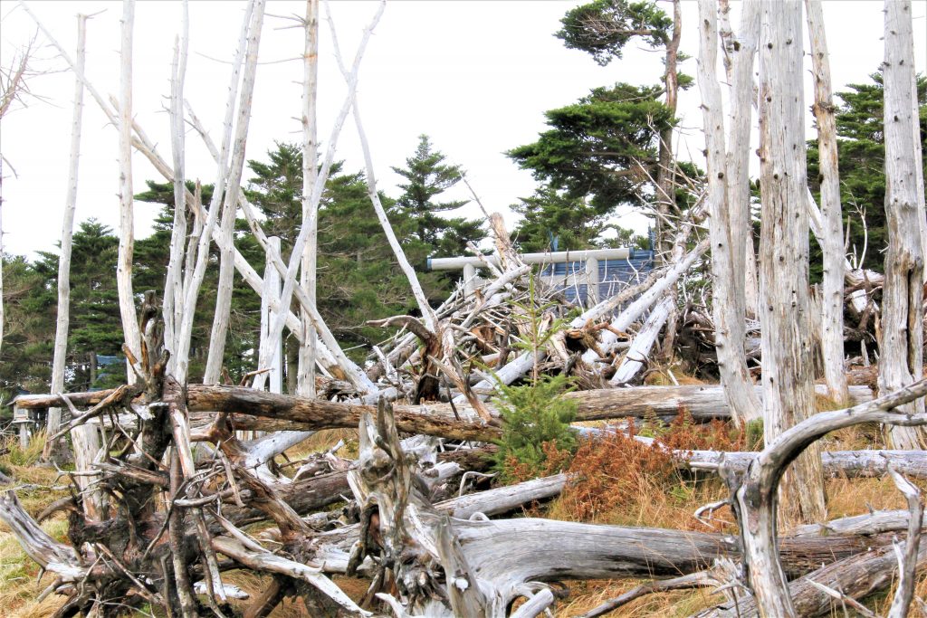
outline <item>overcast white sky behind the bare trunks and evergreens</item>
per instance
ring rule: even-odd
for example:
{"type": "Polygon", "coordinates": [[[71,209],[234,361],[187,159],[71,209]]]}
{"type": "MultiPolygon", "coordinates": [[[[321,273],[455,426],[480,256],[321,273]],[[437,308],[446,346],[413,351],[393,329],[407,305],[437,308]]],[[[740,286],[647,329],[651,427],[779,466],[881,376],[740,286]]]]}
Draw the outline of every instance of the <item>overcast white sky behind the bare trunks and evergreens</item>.
{"type": "MultiPolygon", "coordinates": [[[[230,67],[240,29],[244,2],[195,0],[190,3],[191,44],[185,96],[218,141],[230,67]]],[[[575,0],[418,1],[394,0],[371,40],[362,62],[359,97],[364,129],[370,142],[379,188],[397,196],[400,178],[390,166],[402,166],[420,133],[453,163],[468,171],[484,205],[500,210],[511,225],[508,205],[531,195],[536,182],[518,170],[503,152],[536,139],[545,129],[543,112],[575,102],[596,86],[616,81],[655,83],[661,55],[629,49],[625,58],[601,68],[576,50],[565,49],[553,32],[575,0]]],[[[738,19],[736,3],[733,24],[738,19]]],[[[914,1],[916,62],[925,70],[927,2],[914,1]]],[[[665,9],[669,3],[662,2],[665,9]]],[[[78,12],[102,15],[88,24],[87,74],[98,90],[116,95],[119,90],[121,3],[33,1],[32,10],[57,40],[73,54],[78,12]]],[[[347,61],[353,57],[362,28],[374,15],[376,4],[336,0],[332,13],[339,43],[347,61]]],[[[827,38],[831,50],[835,90],[851,82],[868,82],[883,58],[883,3],[830,0],[824,3],[827,38]]],[[[268,13],[304,14],[304,2],[270,0],[268,13]]],[[[323,9],[324,14],[324,9],[323,9]]],[[[0,0],[0,64],[7,67],[13,54],[35,32],[32,20],[11,0],[0,0]]],[[[169,120],[162,111],[169,93],[174,36],[180,28],[181,5],[166,0],[139,2],[135,15],[133,113],[159,144],[170,161],[169,120]]],[[[692,59],[681,69],[696,73],[698,54],[697,5],[683,2],[682,50],[692,59]]],[[[262,62],[248,137],[248,158],[264,159],[274,141],[298,141],[300,126],[301,29],[291,22],[265,18],[260,44],[262,62]],[[289,59],[289,61],[286,61],[289,59]]],[[[332,123],[344,94],[327,24],[320,27],[319,136],[327,146],[332,123]]],[[[40,41],[44,39],[40,35],[40,41]]],[[[40,55],[41,69],[63,67],[48,47],[40,55]]],[[[723,73],[721,73],[723,74],[723,73]]],[[[806,79],[806,104],[811,101],[806,79]]],[[[11,112],[0,126],[0,150],[16,171],[4,167],[4,249],[31,254],[52,249],[60,237],[68,176],[70,115],[73,77],[58,72],[30,82],[32,91],[47,102],[32,101],[11,112]]],[[[683,138],[679,158],[698,157],[702,149],[698,88],[679,98],[683,138]]],[[[808,118],[810,127],[810,117],[808,118]]],[[[808,133],[811,135],[812,133],[808,133]]],[[[119,226],[117,132],[85,95],[83,145],[76,221],[95,217],[114,229],[119,226]]],[[[349,119],[338,140],[337,158],[346,170],[363,167],[356,130],[349,119]]],[[[187,134],[187,177],[211,183],[215,166],[193,132],[187,134]]],[[[162,180],[141,155],[133,156],[134,190],[145,180],[162,180]]],[[[248,170],[245,178],[249,178],[248,170]]],[[[461,189],[451,197],[466,198],[461,189]]],[[[136,237],[150,231],[159,207],[137,203],[136,237]]],[[[475,217],[475,205],[461,214],[475,217]]],[[[623,216],[621,224],[645,228],[640,215],[623,216]]],[[[31,257],[33,257],[31,255],[31,257]]]]}

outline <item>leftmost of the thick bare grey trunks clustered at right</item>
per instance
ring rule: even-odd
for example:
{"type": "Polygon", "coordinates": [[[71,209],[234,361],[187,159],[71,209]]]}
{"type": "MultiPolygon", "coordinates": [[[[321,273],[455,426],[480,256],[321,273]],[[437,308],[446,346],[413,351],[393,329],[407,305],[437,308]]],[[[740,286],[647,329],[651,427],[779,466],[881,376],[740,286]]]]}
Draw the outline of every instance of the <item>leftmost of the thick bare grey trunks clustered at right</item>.
{"type": "MultiPolygon", "coordinates": [[[[724,109],[721,105],[721,89],[717,83],[715,65],[717,64],[717,9],[714,0],[702,0],[699,3],[699,26],[701,44],[699,46],[698,82],[702,92],[702,113],[705,119],[705,151],[707,152],[708,178],[708,230],[711,236],[711,271],[712,271],[712,309],[715,318],[715,349],[717,350],[717,367],[728,397],[732,418],[738,425],[759,418],[759,401],[754,394],[750,373],[747,371],[746,353],[743,342],[746,338],[744,322],[745,300],[743,277],[735,273],[743,272],[744,236],[743,213],[734,215],[734,210],[743,210],[743,206],[731,202],[736,191],[741,195],[740,187],[729,187],[738,178],[727,177],[729,168],[735,168],[733,158],[745,158],[743,138],[749,139],[749,132],[742,132],[743,124],[749,127],[750,106],[731,109],[731,114],[746,117],[746,123],[732,119],[731,136],[737,138],[731,147],[736,152],[729,158],[724,144],[724,109]],[[737,126],[733,126],[734,123],[737,126]],[[745,133],[745,134],[744,134],[745,133]],[[725,180],[727,177],[727,180],[725,180]]],[[[743,52],[742,52],[743,53],[743,52]]],[[[750,52],[747,52],[750,54],[750,52]]],[[[752,56],[751,56],[752,57],[752,56]]],[[[747,64],[746,57],[737,57],[739,64],[747,64]],[[743,63],[740,62],[743,60],[743,63]]],[[[749,64],[752,64],[749,63],[749,64]]],[[[743,84],[741,84],[743,85],[743,84]]],[[[732,103],[731,105],[734,105],[732,103]]],[[[746,170],[745,161],[743,170],[746,170]]]]}

